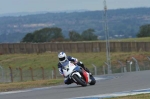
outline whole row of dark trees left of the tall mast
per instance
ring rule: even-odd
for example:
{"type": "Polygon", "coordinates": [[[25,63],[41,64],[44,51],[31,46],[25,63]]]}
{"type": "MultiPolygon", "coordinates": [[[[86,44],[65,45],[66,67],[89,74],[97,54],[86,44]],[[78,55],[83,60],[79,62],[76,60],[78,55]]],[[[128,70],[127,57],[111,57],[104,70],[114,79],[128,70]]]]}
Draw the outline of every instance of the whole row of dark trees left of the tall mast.
{"type": "Polygon", "coordinates": [[[69,31],[69,38],[65,38],[62,29],[58,27],[43,28],[33,33],[27,33],[21,42],[61,42],[61,41],[91,41],[97,40],[94,29],[84,30],[81,34],[72,30],[69,31]]]}

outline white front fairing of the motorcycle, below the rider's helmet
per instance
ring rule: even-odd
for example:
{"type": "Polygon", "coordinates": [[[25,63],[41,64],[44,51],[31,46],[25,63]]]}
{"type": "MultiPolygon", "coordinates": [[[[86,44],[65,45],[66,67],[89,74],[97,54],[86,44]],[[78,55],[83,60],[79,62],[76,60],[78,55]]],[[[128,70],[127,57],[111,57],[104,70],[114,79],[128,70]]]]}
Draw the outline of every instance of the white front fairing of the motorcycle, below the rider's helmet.
{"type": "Polygon", "coordinates": [[[70,61],[65,61],[64,63],[62,63],[62,66],[63,66],[64,76],[70,75],[73,72],[74,68],[76,67],[70,61]]]}

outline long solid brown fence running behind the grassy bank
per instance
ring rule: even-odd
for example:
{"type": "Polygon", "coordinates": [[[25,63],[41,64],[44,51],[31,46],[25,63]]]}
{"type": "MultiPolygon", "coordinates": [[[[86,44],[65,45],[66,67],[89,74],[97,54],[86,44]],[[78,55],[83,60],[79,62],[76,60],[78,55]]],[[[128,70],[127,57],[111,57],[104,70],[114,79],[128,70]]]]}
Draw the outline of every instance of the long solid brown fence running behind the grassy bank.
{"type": "MultiPolygon", "coordinates": [[[[2,43],[0,54],[58,52],[105,52],[105,42],[2,43]]],[[[150,42],[110,42],[111,52],[150,51],[150,42]]]]}

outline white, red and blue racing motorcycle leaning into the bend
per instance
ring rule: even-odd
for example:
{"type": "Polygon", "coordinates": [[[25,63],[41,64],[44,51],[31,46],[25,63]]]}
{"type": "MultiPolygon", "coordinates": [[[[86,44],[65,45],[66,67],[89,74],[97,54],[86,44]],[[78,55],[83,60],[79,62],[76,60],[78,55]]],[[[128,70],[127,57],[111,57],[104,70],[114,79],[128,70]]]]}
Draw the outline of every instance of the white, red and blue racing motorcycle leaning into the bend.
{"type": "Polygon", "coordinates": [[[95,85],[96,80],[93,75],[86,72],[82,67],[69,60],[65,61],[62,66],[64,76],[69,77],[74,83],[81,86],[95,85]]]}

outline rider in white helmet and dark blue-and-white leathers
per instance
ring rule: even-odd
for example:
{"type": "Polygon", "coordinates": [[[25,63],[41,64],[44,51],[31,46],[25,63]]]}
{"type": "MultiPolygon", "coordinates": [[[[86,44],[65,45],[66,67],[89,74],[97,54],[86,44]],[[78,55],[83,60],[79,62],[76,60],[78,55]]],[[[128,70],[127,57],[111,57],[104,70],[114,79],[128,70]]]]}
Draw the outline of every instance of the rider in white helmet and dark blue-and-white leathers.
{"type": "MultiPolygon", "coordinates": [[[[74,57],[71,57],[71,56],[67,56],[66,53],[64,53],[64,52],[60,52],[58,54],[58,58],[59,58],[58,70],[59,70],[59,73],[62,76],[64,76],[63,71],[62,71],[62,63],[65,62],[66,60],[72,61],[74,64],[77,64],[78,66],[81,66],[85,71],[87,71],[88,73],[90,73],[89,70],[84,67],[84,64],[81,61],[78,61],[77,58],[74,58],[74,57]]],[[[65,84],[71,84],[73,82],[69,78],[65,78],[64,83],[65,84]]]]}

